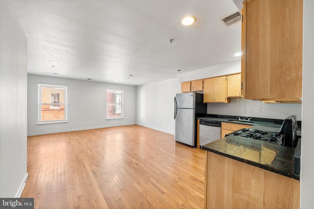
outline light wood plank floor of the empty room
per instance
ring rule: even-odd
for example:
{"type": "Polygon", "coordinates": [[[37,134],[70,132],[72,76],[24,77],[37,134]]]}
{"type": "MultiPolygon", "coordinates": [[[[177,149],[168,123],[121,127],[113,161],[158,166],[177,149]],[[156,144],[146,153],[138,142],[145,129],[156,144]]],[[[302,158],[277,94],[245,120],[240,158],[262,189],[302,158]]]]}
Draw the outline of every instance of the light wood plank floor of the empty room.
{"type": "Polygon", "coordinates": [[[36,209],[204,208],[205,151],[138,125],[27,138],[36,209]]]}

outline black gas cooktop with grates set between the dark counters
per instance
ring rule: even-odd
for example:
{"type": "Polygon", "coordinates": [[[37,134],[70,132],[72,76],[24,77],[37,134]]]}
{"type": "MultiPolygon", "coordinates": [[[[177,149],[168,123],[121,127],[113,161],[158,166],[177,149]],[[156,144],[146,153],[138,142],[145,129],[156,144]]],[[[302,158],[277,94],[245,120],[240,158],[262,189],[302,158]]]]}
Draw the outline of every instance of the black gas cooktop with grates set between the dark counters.
{"type": "Polygon", "coordinates": [[[278,133],[253,130],[253,129],[249,129],[249,128],[243,128],[243,129],[235,131],[233,133],[226,134],[226,136],[230,136],[230,135],[249,138],[249,139],[268,141],[271,143],[280,143],[281,139],[283,137],[283,135],[278,134],[278,133]]]}

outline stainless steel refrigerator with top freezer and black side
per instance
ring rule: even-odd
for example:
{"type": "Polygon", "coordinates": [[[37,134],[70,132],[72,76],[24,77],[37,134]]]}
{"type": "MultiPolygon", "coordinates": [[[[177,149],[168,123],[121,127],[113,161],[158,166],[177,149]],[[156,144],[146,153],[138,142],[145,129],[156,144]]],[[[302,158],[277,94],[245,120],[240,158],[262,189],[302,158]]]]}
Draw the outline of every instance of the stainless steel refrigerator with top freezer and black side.
{"type": "Polygon", "coordinates": [[[177,93],[175,97],[175,140],[196,146],[197,117],[207,115],[202,93],[177,93]]]}

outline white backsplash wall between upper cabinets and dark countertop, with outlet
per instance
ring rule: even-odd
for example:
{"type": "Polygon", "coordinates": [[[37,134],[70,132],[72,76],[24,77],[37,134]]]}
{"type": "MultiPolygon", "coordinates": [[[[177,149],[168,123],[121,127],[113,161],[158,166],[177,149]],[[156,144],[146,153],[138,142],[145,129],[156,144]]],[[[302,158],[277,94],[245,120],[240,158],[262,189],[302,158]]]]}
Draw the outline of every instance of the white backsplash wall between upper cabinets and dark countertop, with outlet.
{"type": "Polygon", "coordinates": [[[247,116],[262,117],[273,119],[285,119],[288,116],[297,116],[297,120],[302,120],[301,104],[284,103],[263,103],[257,100],[237,100],[231,98],[231,103],[218,104],[209,103],[207,105],[208,114],[228,115],[228,116],[247,116]],[[255,108],[260,107],[261,113],[255,112],[255,108]]]}

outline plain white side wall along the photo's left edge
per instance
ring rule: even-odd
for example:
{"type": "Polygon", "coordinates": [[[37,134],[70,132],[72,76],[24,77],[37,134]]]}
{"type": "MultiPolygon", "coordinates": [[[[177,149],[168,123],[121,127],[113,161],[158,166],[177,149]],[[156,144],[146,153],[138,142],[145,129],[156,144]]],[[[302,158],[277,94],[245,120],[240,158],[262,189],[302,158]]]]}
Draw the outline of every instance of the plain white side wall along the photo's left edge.
{"type": "Polygon", "coordinates": [[[27,40],[0,1],[0,197],[20,197],[27,179],[27,40]]]}

